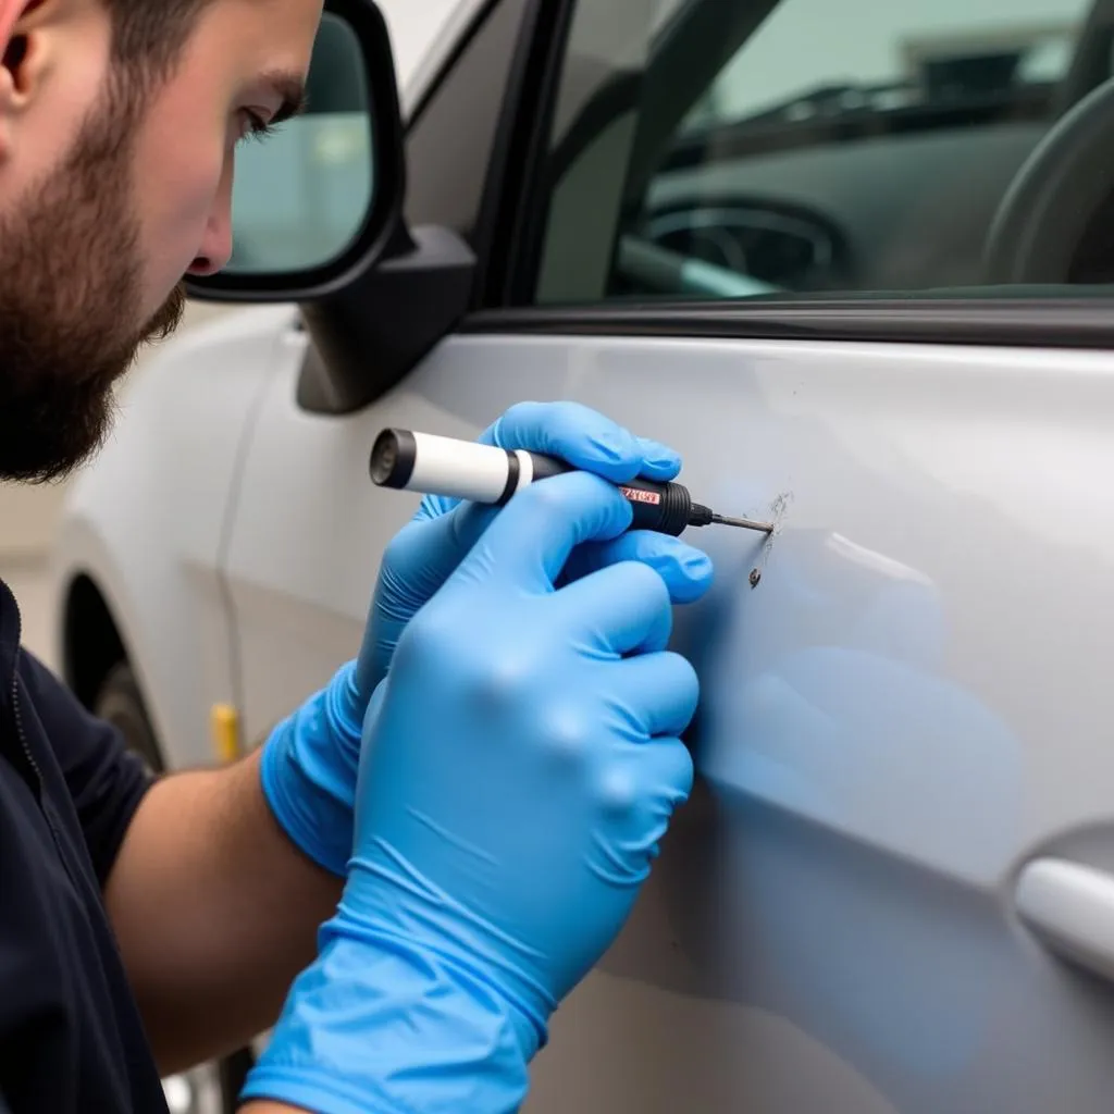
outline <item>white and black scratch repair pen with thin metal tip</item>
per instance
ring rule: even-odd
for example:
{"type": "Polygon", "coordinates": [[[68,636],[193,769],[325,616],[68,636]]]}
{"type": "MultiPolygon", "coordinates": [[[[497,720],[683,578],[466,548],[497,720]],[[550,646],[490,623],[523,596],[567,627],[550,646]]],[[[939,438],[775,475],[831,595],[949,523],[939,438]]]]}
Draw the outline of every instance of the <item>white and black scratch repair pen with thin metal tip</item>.
{"type": "MultiPolygon", "coordinates": [[[[571,470],[565,461],[539,452],[497,449],[405,429],[384,429],[371,450],[371,479],[377,487],[497,507],[529,483],[571,470]]],[[[634,509],[632,529],[674,537],[688,526],[712,525],[773,532],[772,522],[729,518],[693,502],[688,489],[681,483],[637,479],[616,487],[634,509]]]]}

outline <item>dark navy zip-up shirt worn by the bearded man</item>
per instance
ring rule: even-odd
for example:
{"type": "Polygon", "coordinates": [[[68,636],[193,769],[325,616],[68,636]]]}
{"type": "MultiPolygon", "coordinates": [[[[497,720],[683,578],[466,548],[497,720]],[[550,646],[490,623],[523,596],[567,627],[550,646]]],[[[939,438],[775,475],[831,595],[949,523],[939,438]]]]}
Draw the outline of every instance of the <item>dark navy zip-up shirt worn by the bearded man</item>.
{"type": "Polygon", "coordinates": [[[0,583],[0,1112],[165,1114],[101,890],[150,784],[0,583]]]}

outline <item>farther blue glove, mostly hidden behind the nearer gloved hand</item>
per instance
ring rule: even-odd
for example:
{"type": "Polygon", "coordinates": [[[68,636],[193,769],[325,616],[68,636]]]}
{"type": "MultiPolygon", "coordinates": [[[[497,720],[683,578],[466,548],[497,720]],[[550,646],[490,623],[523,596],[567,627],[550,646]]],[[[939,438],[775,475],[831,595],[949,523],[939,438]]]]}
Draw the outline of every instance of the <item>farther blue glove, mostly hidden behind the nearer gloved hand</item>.
{"type": "MultiPolygon", "coordinates": [[[[511,408],[480,440],[561,457],[613,481],[673,479],[681,458],[575,402],[511,408]]],[[[364,712],[387,674],[405,625],[444,584],[496,509],[427,498],[383,555],[356,662],[349,663],[272,733],[263,751],[263,789],[278,823],[314,861],[343,876],[352,849],[352,801],[364,712]]],[[[642,560],[665,578],[677,602],[698,595],[707,558],[676,538],[646,530],[579,547],[566,569],[576,579],[620,560],[642,560]]]]}

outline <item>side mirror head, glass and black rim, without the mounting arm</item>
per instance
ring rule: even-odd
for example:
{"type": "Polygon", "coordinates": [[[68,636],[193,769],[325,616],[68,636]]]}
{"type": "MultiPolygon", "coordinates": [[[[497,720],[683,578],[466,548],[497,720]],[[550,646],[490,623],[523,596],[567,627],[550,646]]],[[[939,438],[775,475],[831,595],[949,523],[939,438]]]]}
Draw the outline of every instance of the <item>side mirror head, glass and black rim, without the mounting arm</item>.
{"type": "Polygon", "coordinates": [[[401,225],[402,121],[387,25],[365,0],[330,0],[307,108],[236,155],[233,256],[195,297],[311,301],[378,261],[401,225]]]}

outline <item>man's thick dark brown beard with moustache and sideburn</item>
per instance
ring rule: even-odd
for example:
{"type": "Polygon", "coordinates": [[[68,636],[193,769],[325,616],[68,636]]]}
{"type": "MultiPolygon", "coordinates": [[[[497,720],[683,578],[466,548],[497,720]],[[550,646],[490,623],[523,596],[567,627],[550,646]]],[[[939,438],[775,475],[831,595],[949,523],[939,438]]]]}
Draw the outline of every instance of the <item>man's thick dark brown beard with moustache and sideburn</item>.
{"type": "Polygon", "coordinates": [[[140,110],[109,94],[62,165],[0,219],[0,479],[63,479],[104,442],[114,388],[177,328],[180,284],[147,322],[130,187],[140,110]]]}

